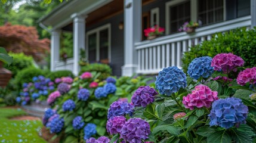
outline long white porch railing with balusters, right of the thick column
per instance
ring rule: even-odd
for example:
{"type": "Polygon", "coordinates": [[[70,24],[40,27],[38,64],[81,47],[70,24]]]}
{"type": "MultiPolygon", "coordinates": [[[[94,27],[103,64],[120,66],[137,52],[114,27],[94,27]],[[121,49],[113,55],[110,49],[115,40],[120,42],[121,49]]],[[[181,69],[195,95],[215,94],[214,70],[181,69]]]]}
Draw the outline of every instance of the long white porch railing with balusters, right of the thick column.
{"type": "Polygon", "coordinates": [[[180,32],[151,41],[137,42],[135,43],[138,58],[137,73],[152,74],[158,73],[164,67],[181,67],[183,52],[188,51],[190,46],[211,39],[217,32],[248,26],[251,26],[251,16],[200,27],[192,34],[180,32]]]}

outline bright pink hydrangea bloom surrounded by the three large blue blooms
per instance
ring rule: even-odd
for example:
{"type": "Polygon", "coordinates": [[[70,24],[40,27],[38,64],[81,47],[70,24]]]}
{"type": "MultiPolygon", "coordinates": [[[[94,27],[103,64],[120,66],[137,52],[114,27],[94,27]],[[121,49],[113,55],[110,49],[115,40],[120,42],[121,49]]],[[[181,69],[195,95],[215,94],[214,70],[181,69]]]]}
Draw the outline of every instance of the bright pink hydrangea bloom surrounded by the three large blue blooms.
{"type": "Polygon", "coordinates": [[[208,86],[198,85],[195,87],[195,90],[192,91],[192,94],[188,94],[187,97],[183,97],[183,104],[185,108],[193,110],[194,107],[202,108],[211,107],[211,103],[215,100],[218,100],[218,92],[211,91],[208,86]]]}

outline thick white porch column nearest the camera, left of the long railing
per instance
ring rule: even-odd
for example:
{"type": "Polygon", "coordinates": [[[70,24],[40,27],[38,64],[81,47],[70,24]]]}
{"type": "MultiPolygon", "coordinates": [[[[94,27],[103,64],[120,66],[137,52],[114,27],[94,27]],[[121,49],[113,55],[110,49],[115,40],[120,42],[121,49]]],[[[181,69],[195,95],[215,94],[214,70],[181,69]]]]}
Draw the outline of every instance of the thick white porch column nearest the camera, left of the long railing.
{"type": "Polygon", "coordinates": [[[141,0],[124,0],[124,66],[122,76],[137,70],[135,42],[141,41],[141,0]]]}

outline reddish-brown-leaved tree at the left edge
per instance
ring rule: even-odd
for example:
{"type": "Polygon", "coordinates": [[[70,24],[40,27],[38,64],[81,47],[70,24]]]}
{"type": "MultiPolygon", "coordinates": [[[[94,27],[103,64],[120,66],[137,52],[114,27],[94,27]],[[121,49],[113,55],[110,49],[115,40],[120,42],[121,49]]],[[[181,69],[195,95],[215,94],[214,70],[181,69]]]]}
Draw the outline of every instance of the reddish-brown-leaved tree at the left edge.
{"type": "Polygon", "coordinates": [[[32,55],[37,61],[50,52],[50,40],[38,38],[35,27],[11,25],[10,23],[0,26],[0,46],[8,52],[24,52],[26,55],[32,55]]]}

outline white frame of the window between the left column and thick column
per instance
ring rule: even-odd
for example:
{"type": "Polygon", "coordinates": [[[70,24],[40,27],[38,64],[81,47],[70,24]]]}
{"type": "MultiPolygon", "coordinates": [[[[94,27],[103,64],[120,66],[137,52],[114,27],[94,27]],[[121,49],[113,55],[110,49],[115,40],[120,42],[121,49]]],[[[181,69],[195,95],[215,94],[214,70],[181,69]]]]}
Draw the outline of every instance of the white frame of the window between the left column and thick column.
{"type": "Polygon", "coordinates": [[[89,35],[92,33],[96,33],[96,61],[100,61],[100,30],[107,29],[108,33],[108,51],[107,51],[107,58],[109,59],[109,63],[111,62],[111,24],[107,23],[103,26],[97,27],[86,32],[86,54],[89,57],[89,35]]]}

